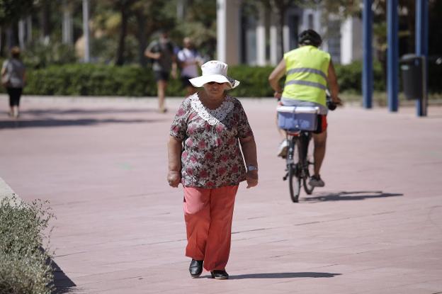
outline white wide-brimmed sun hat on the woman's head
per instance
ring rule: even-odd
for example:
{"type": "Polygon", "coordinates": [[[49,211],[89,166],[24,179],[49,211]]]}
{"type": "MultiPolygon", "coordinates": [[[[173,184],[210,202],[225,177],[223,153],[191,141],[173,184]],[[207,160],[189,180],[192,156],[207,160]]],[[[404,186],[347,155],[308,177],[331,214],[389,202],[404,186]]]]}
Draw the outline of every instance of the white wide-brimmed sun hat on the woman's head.
{"type": "Polygon", "coordinates": [[[216,83],[227,83],[230,89],[234,89],[239,85],[239,81],[227,77],[227,68],[229,66],[224,62],[218,60],[210,60],[201,65],[201,71],[203,74],[200,77],[189,79],[193,86],[197,88],[204,86],[210,81],[215,81],[216,83]]]}

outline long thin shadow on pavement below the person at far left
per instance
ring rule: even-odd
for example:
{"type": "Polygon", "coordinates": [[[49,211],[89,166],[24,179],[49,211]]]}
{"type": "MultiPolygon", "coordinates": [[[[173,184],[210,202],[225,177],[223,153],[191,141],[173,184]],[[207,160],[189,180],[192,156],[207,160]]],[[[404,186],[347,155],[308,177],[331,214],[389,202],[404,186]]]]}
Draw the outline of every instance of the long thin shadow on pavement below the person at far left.
{"type": "Polygon", "coordinates": [[[98,120],[94,118],[81,118],[72,120],[59,120],[59,119],[41,119],[41,120],[0,120],[0,129],[2,128],[41,128],[41,127],[66,127],[72,125],[98,125],[100,123],[155,123],[162,120],[145,120],[145,119],[133,119],[133,120],[120,120],[114,118],[108,118],[98,120]]]}

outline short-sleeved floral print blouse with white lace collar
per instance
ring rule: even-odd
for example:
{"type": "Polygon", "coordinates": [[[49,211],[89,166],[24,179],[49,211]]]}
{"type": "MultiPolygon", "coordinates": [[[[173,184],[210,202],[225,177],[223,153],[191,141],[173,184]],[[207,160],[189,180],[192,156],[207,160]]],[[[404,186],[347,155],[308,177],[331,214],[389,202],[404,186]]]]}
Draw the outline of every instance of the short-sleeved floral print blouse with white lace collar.
{"type": "Polygon", "coordinates": [[[183,141],[183,186],[219,188],[246,179],[238,139],[253,132],[237,98],[226,96],[220,107],[210,110],[198,93],[188,96],[175,115],[170,135],[183,141]]]}

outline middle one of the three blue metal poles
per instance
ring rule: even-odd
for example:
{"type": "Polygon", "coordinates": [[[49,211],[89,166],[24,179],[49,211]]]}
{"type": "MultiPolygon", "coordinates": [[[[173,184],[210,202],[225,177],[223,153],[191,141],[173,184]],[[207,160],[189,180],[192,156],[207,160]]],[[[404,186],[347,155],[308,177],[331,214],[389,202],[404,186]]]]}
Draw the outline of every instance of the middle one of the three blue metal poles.
{"type": "Polygon", "coordinates": [[[397,111],[397,72],[399,67],[399,22],[397,16],[397,1],[387,1],[387,96],[388,109],[397,111]]]}

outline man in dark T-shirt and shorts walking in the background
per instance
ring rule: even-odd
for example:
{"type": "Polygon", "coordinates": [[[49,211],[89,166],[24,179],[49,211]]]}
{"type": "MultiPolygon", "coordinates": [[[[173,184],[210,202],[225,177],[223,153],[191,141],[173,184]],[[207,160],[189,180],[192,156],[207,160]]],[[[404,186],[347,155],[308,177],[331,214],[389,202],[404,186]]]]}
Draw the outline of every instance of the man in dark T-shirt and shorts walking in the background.
{"type": "Polygon", "coordinates": [[[158,40],[152,41],[147,46],[145,55],[153,60],[152,69],[157,81],[158,109],[160,113],[165,113],[167,111],[165,106],[167,81],[170,75],[176,78],[174,44],[169,40],[169,35],[165,30],[160,32],[158,40]]]}

